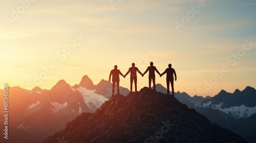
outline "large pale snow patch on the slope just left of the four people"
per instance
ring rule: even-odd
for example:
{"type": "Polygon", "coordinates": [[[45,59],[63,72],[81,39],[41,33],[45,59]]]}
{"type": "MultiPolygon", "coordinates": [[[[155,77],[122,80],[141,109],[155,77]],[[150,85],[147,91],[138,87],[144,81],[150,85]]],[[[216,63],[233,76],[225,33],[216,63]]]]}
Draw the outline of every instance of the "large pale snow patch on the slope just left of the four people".
{"type": "Polygon", "coordinates": [[[92,110],[99,108],[105,101],[109,100],[104,96],[95,93],[96,90],[89,90],[81,86],[76,88],[76,90],[82,94],[84,103],[86,103],[86,105],[92,110]],[[92,106],[91,103],[93,103],[94,106],[92,106]]]}

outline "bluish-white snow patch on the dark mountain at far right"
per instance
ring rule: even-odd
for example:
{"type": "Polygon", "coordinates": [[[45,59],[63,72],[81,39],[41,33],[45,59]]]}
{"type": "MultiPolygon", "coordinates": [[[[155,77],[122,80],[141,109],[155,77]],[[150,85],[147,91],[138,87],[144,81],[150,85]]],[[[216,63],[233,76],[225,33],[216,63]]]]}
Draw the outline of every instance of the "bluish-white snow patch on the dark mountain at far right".
{"type": "Polygon", "coordinates": [[[241,117],[246,118],[256,113],[256,106],[246,107],[245,105],[241,105],[241,106],[233,106],[230,108],[221,108],[221,106],[222,106],[222,103],[218,105],[211,105],[211,108],[218,109],[226,114],[231,113],[234,118],[241,118],[241,117]]]}

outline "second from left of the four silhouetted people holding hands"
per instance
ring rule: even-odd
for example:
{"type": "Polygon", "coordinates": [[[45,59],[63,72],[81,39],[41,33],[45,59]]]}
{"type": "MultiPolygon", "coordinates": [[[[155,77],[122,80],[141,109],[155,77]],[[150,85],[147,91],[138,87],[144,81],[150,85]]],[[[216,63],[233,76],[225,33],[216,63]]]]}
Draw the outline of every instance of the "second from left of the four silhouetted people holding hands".
{"type": "Polygon", "coordinates": [[[137,91],[137,71],[142,76],[142,73],[140,72],[138,67],[135,66],[135,63],[132,63],[132,67],[130,67],[127,73],[124,75],[124,78],[125,78],[129,73],[131,73],[131,77],[130,77],[131,91],[130,92],[133,91],[133,81],[135,85],[135,92],[138,92],[137,91]]]}

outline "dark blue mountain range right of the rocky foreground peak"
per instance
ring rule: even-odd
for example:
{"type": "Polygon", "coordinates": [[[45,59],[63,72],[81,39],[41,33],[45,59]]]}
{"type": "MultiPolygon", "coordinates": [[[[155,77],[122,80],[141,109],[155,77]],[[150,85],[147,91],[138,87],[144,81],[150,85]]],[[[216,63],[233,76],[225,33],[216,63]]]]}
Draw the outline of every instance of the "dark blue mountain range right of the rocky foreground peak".
{"type": "MultiPolygon", "coordinates": [[[[166,93],[166,88],[157,84],[159,92],[166,93]]],[[[255,142],[256,132],[256,90],[247,86],[243,91],[233,93],[221,90],[215,97],[190,97],[185,92],[175,93],[175,98],[189,108],[196,109],[212,123],[230,129],[244,137],[248,142],[255,142]]]]}

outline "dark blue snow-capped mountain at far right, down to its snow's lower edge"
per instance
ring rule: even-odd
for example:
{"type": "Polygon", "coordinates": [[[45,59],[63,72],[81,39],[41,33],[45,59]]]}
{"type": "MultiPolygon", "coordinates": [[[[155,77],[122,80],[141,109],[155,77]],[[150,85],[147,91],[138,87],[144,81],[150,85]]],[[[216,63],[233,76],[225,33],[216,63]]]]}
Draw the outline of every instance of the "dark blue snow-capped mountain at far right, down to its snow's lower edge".
{"type": "Polygon", "coordinates": [[[256,90],[249,86],[243,91],[236,89],[233,93],[221,90],[215,97],[195,104],[195,108],[212,108],[233,118],[246,118],[256,113],[256,90]]]}

